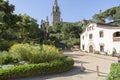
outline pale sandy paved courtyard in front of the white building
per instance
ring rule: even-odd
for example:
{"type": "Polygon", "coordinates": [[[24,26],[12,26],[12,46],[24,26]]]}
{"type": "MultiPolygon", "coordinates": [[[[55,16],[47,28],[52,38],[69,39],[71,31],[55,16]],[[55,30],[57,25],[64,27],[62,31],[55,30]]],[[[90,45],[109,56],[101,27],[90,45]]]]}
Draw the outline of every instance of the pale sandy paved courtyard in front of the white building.
{"type": "Polygon", "coordinates": [[[111,63],[117,62],[116,57],[94,55],[80,51],[64,52],[63,54],[74,59],[75,65],[72,70],[59,74],[16,80],[105,80],[109,73],[111,63]],[[86,68],[85,72],[80,72],[81,63],[83,63],[83,66],[86,68]],[[96,66],[99,66],[99,76],[97,76],[96,66]]]}

